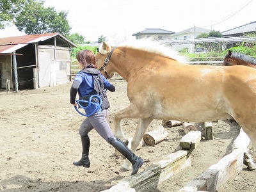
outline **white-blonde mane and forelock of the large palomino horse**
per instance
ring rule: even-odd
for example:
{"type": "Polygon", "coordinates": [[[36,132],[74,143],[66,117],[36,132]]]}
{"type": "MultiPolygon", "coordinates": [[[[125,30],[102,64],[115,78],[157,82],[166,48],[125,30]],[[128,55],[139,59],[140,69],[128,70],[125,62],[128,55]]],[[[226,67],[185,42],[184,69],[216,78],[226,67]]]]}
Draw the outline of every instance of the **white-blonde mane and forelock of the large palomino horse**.
{"type": "MultiPolygon", "coordinates": [[[[182,63],[186,62],[186,58],[180,56],[179,53],[172,49],[172,47],[163,44],[161,42],[156,42],[151,39],[140,39],[127,41],[119,44],[117,47],[127,47],[131,49],[138,49],[141,51],[154,52],[166,58],[172,58],[173,60],[180,61],[182,63]]],[[[107,54],[106,50],[102,49],[102,45],[99,47],[99,52],[101,54],[107,54]]]]}

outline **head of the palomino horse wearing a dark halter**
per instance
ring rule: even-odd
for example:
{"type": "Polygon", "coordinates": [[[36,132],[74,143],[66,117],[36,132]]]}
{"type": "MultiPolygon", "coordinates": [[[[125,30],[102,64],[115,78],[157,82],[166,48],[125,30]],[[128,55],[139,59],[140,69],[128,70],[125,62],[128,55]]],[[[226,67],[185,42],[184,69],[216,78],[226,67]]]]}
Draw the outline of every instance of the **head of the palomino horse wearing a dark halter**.
{"type": "Polygon", "coordinates": [[[96,54],[96,63],[98,70],[106,78],[111,78],[115,75],[113,70],[113,63],[111,62],[111,54],[115,50],[115,47],[108,45],[106,42],[103,42],[99,47],[99,52],[96,54]]]}

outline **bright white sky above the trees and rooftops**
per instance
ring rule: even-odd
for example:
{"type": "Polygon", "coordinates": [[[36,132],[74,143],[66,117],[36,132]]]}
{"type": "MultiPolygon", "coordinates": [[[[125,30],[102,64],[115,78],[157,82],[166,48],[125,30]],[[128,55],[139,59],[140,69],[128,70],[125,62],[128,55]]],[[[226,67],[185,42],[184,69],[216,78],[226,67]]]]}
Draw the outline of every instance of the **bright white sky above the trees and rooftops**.
{"type": "MultiPolygon", "coordinates": [[[[97,41],[134,40],[146,28],[175,33],[193,26],[227,31],[256,21],[256,0],[45,0],[45,7],[68,12],[70,33],[97,41]]],[[[0,30],[4,36],[24,35],[15,26],[0,30]]]]}

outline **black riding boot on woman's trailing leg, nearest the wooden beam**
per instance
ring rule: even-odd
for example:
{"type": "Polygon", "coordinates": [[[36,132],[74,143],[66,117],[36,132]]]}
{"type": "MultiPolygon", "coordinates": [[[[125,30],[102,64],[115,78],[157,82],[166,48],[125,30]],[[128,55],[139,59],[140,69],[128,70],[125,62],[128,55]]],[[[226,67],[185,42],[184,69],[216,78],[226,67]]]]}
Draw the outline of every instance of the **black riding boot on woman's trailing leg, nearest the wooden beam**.
{"type": "Polygon", "coordinates": [[[134,153],[129,150],[129,148],[119,139],[111,139],[109,141],[110,145],[116,148],[126,159],[128,159],[132,163],[132,173],[134,175],[138,172],[139,168],[144,163],[141,157],[135,156],[134,153]]]}

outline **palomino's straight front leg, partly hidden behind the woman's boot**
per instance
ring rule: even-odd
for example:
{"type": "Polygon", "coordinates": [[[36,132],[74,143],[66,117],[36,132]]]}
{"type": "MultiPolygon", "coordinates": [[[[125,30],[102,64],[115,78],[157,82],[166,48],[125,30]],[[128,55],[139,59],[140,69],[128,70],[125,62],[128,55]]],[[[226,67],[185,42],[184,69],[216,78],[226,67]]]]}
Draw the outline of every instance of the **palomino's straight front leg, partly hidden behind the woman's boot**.
{"type": "MultiPolygon", "coordinates": [[[[134,137],[132,138],[131,143],[131,151],[134,153],[136,151],[136,148],[139,146],[140,141],[142,140],[143,136],[145,135],[145,132],[147,130],[148,125],[152,122],[152,119],[150,118],[140,118],[138,121],[137,129],[134,134],[134,137]]],[[[124,164],[122,165],[121,170],[131,170],[131,163],[126,159],[124,164]]]]}

